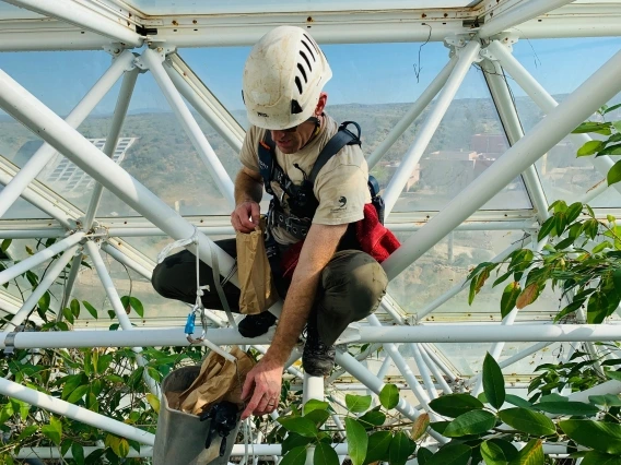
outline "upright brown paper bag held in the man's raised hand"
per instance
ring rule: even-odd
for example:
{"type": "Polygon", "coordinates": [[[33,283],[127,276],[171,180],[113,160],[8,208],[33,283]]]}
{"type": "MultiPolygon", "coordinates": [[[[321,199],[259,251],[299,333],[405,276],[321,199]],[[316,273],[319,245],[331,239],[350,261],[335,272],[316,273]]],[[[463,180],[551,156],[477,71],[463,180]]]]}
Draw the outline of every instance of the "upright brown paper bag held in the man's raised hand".
{"type": "Polygon", "coordinates": [[[273,284],[263,231],[265,217],[250,234],[237,231],[237,276],[239,278],[239,312],[257,314],[266,311],[278,300],[273,284]]]}

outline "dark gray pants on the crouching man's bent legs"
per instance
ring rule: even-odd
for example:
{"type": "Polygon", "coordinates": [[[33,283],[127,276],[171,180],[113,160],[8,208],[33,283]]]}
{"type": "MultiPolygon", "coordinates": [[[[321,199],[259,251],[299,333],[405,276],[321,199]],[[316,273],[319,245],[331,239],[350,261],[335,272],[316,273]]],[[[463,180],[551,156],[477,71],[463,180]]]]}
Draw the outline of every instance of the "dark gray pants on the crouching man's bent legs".
{"type": "MultiPolygon", "coordinates": [[[[231,257],[237,257],[235,239],[220,240],[215,243],[231,257]]],[[[211,269],[201,262],[199,275],[201,286],[209,285],[210,288],[210,291],[206,291],[202,296],[204,307],[222,310],[211,269]]],[[[283,296],[288,283],[281,276],[274,276],[274,281],[279,294],[283,296]]],[[[151,282],[163,297],[195,303],[196,257],[184,250],[166,258],[153,271],[151,282]]],[[[350,323],[373,313],[386,294],[387,285],[388,278],[384,269],[367,253],[360,250],[342,250],[335,253],[321,272],[313,306],[312,318],[317,319],[321,341],[328,345],[333,344],[350,323]]],[[[231,310],[238,312],[239,289],[231,283],[226,283],[223,288],[231,310]]]]}

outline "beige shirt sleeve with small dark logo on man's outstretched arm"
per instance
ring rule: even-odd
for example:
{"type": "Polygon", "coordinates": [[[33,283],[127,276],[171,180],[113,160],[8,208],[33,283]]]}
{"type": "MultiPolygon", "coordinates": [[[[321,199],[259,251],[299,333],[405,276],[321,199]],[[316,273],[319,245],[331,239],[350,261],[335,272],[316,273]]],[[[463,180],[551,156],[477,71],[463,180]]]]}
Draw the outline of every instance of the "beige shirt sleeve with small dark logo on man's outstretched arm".
{"type": "Polygon", "coordinates": [[[343,225],[362,219],[368,196],[367,172],[359,164],[336,162],[326,164],[319,175],[315,182],[319,206],[313,223],[343,225]]]}

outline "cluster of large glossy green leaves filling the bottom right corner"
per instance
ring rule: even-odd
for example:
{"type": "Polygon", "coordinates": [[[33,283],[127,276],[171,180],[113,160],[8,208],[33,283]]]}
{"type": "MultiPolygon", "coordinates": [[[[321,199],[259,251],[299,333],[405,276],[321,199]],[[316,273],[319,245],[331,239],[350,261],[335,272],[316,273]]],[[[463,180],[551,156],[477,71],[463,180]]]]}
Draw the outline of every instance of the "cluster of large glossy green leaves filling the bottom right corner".
{"type": "Polygon", "coordinates": [[[549,460],[543,442],[569,442],[579,450],[571,456],[584,457],[583,463],[621,462],[618,395],[591,396],[583,403],[555,394],[531,403],[506,394],[499,373],[500,367],[488,354],[481,400],[450,394],[430,403],[436,414],[448,418],[431,422],[431,428],[452,440],[435,453],[419,449],[420,464],[467,465],[472,460],[471,463],[483,461],[487,465],[543,465],[549,460]],[[518,451],[513,444],[516,441],[526,445],[518,451]]]}

